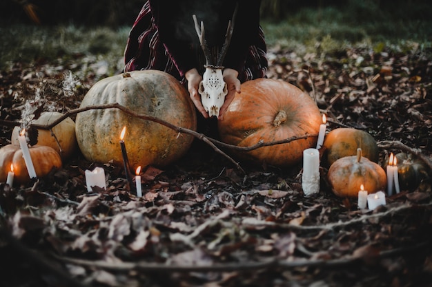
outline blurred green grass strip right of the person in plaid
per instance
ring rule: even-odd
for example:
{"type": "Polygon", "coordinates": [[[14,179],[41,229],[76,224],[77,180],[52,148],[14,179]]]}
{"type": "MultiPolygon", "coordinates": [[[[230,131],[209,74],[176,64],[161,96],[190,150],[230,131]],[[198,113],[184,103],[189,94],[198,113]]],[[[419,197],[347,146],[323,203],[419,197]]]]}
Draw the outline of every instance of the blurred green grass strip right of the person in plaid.
{"type": "Polygon", "coordinates": [[[301,8],[295,14],[286,14],[282,21],[264,17],[262,25],[268,45],[288,50],[312,52],[320,47],[324,52],[335,52],[346,45],[404,50],[412,42],[429,49],[431,6],[407,2],[382,10],[380,1],[349,0],[343,6],[301,8]]]}

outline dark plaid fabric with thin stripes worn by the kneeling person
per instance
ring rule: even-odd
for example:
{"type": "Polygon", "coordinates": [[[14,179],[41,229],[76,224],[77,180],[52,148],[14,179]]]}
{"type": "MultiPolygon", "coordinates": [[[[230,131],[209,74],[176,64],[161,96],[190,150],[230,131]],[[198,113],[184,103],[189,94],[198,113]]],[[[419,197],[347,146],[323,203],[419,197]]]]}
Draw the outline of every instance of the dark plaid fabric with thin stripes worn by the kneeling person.
{"type": "MultiPolygon", "coordinates": [[[[201,63],[197,70],[204,72],[205,59],[202,51],[197,51],[197,59],[201,63]]],[[[133,70],[160,70],[175,76],[181,83],[186,79],[181,76],[186,71],[177,70],[175,61],[170,58],[164,43],[159,40],[159,34],[152,17],[150,3],[144,3],[135,23],[132,25],[126,49],[124,52],[124,71],[133,70]]],[[[267,71],[266,43],[264,32],[259,28],[259,35],[255,45],[251,45],[246,54],[246,61],[242,71],[239,71],[239,80],[243,83],[254,78],[265,78],[267,71]]]]}

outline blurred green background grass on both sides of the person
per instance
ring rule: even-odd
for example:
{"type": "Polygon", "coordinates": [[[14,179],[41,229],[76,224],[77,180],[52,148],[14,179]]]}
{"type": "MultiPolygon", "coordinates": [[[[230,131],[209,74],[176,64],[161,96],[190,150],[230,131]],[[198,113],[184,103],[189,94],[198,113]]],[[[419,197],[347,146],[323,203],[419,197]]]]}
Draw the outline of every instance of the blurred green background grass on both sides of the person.
{"type": "MultiPolygon", "coordinates": [[[[418,43],[431,48],[432,19],[426,4],[382,10],[379,1],[348,0],[344,6],[305,7],[282,19],[263,17],[268,47],[304,54],[333,53],[355,45],[407,49],[418,43]],[[426,5],[426,6],[424,6],[426,5]],[[429,15],[429,16],[428,16],[429,15]]],[[[415,2],[415,1],[414,1],[415,2]]],[[[422,3],[422,2],[421,2],[422,3]]],[[[268,14],[268,13],[267,13],[268,14]]],[[[74,59],[97,56],[108,61],[110,74],[121,67],[130,27],[85,27],[74,24],[51,26],[15,24],[0,27],[0,68],[14,62],[74,59]]]]}

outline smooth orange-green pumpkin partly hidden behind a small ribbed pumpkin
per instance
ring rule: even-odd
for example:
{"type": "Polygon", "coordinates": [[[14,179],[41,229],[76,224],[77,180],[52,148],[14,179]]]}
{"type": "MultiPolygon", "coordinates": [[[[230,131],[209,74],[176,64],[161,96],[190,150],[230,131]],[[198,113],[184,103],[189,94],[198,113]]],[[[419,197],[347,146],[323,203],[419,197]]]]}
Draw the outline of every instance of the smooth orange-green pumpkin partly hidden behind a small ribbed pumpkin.
{"type": "Polygon", "coordinates": [[[330,167],[333,162],[345,156],[355,156],[359,148],[362,149],[362,156],[373,162],[378,162],[380,157],[375,139],[361,129],[332,129],[326,135],[322,147],[322,161],[326,167],[330,167]]]}

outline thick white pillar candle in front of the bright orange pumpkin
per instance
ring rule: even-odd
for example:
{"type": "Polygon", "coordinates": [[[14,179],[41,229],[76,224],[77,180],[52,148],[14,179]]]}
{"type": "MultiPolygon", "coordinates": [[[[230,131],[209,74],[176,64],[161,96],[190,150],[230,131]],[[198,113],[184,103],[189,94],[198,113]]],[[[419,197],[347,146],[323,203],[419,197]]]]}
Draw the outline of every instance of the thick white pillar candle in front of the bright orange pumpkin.
{"type": "Polygon", "coordinates": [[[306,196],[320,191],[320,152],[317,149],[303,151],[302,187],[306,196]]]}

